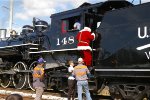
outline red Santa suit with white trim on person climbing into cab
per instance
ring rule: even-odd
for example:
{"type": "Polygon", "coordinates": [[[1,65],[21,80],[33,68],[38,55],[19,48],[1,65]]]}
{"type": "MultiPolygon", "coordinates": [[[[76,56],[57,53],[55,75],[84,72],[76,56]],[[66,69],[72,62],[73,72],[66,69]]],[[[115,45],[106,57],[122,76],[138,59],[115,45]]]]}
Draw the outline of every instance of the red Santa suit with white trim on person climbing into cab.
{"type": "Polygon", "coordinates": [[[92,63],[92,48],[90,42],[95,39],[95,34],[91,33],[89,27],[84,27],[76,36],[78,40],[77,49],[80,50],[81,55],[86,66],[91,66],[92,63]]]}

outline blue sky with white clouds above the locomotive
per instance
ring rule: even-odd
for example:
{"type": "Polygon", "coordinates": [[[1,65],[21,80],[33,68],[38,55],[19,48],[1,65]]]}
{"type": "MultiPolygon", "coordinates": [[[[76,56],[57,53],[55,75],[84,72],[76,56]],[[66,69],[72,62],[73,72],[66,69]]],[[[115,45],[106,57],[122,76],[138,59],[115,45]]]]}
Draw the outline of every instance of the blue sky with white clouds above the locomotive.
{"type": "MultiPolygon", "coordinates": [[[[32,25],[33,17],[50,23],[50,15],[77,8],[84,2],[99,3],[106,0],[14,0],[13,29],[21,31],[23,25],[32,25]]],[[[128,0],[132,2],[133,0],[128,0]]],[[[142,3],[150,0],[142,0],[142,3]]],[[[10,0],[0,0],[0,29],[9,27],[10,0]]],[[[138,4],[139,0],[134,0],[138,4]]]]}

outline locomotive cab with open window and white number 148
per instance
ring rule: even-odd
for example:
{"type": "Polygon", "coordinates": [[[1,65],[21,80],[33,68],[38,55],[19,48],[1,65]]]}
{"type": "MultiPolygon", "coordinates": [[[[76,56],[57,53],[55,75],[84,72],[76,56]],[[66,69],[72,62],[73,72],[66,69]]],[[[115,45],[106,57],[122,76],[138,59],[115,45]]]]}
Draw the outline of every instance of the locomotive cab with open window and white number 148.
{"type": "MultiPolygon", "coordinates": [[[[76,54],[76,35],[80,30],[74,29],[74,23],[78,21],[81,24],[80,29],[87,26],[91,28],[92,32],[98,33],[97,28],[100,27],[100,23],[102,22],[105,12],[126,6],[132,6],[132,4],[127,1],[107,1],[105,3],[102,2],[94,5],[84,3],[77,9],[53,14],[51,16],[50,32],[47,33],[48,37],[53,37],[50,40],[52,41],[50,49],[54,51],[62,50],[73,52],[76,57],[73,57],[72,59],[77,61],[77,55],[80,55],[76,54]]],[[[93,49],[100,48],[100,33],[97,35],[97,39],[91,44],[93,49]]],[[[95,53],[93,53],[93,56],[94,55],[95,53]]],[[[95,58],[95,60],[97,59],[97,57],[93,58],[95,58]]],[[[67,59],[70,59],[70,57],[68,56],[67,59]]],[[[67,59],[61,60],[66,62],[67,59]]]]}

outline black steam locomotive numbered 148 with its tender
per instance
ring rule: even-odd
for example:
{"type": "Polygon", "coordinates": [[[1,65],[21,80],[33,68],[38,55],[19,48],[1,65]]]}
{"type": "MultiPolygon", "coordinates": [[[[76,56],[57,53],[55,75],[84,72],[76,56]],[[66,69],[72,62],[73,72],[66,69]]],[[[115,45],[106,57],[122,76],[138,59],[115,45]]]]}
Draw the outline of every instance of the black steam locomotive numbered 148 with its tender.
{"type": "MultiPolygon", "coordinates": [[[[51,25],[33,19],[20,35],[15,31],[0,41],[0,85],[32,87],[32,71],[43,57],[47,89],[65,90],[67,61],[77,61],[75,20],[97,33],[91,43],[95,79],[91,93],[112,98],[141,100],[150,95],[150,3],[133,5],[125,0],[83,3],[76,9],[51,15],[51,25]],[[108,93],[103,94],[106,90],[108,93]]],[[[34,89],[33,89],[34,90],[34,89]]]]}

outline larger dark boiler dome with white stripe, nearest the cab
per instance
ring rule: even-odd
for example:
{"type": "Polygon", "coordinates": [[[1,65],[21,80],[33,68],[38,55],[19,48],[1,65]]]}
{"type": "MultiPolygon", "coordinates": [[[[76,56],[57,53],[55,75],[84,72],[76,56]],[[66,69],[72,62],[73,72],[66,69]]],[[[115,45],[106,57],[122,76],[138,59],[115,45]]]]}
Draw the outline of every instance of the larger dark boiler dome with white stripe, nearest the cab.
{"type": "Polygon", "coordinates": [[[48,23],[46,21],[37,21],[35,23],[35,29],[39,32],[45,32],[48,28],[48,23]]]}

